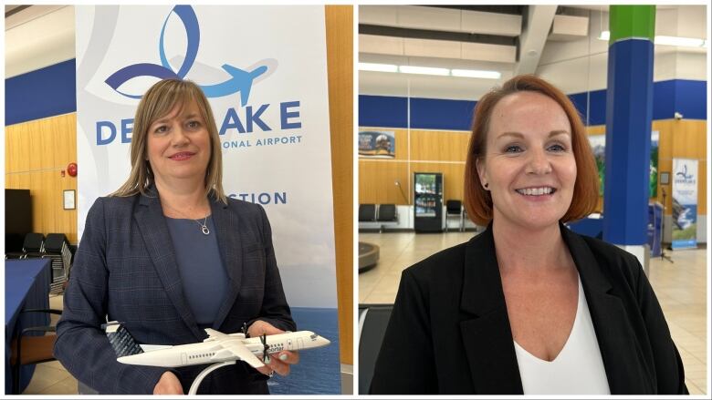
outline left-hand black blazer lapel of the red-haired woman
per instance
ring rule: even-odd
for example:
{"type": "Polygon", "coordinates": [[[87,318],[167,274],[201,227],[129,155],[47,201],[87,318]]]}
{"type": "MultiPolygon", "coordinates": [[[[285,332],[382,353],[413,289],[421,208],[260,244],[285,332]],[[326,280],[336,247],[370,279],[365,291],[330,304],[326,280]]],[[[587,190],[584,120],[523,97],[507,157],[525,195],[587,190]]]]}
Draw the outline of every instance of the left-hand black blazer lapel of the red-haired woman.
{"type": "Polygon", "coordinates": [[[466,246],[460,322],[476,394],[523,394],[492,226],[466,246]]]}

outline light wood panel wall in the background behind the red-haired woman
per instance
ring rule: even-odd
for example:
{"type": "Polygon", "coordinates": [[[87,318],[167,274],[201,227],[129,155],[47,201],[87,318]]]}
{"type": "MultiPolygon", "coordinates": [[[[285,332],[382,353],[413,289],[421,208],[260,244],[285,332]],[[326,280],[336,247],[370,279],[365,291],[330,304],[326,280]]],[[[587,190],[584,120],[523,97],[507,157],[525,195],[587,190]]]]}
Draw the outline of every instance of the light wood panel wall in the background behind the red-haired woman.
{"type": "MultiPolygon", "coordinates": [[[[394,159],[359,159],[359,203],[408,204],[414,172],[443,172],[445,200],[463,199],[468,131],[411,130],[409,132],[407,129],[365,127],[360,130],[393,131],[396,148],[394,159]],[[407,201],[395,186],[395,180],[402,182],[407,201]]],[[[587,127],[586,130],[589,135],[605,134],[604,125],[587,127]]],[[[707,215],[707,147],[709,146],[707,121],[662,119],[653,121],[653,130],[660,132],[658,174],[672,171],[673,158],[699,160],[697,213],[707,215]]],[[[670,185],[660,185],[658,182],[655,200],[663,202],[662,188],[667,192],[665,213],[670,214],[672,210],[670,185]]],[[[602,211],[602,209],[601,197],[597,210],[602,211]]]]}

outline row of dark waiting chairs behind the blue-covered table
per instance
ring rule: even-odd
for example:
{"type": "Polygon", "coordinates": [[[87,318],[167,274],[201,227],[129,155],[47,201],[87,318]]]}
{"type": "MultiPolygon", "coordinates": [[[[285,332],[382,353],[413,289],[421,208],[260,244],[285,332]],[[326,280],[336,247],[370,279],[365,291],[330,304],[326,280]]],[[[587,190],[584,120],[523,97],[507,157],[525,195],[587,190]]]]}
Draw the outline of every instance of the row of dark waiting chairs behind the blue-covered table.
{"type": "Polygon", "coordinates": [[[27,233],[22,244],[22,251],[5,254],[8,259],[48,258],[52,261],[52,282],[49,292],[59,293],[64,290],[71,269],[72,253],[69,250],[67,236],[64,233],[27,233]]]}

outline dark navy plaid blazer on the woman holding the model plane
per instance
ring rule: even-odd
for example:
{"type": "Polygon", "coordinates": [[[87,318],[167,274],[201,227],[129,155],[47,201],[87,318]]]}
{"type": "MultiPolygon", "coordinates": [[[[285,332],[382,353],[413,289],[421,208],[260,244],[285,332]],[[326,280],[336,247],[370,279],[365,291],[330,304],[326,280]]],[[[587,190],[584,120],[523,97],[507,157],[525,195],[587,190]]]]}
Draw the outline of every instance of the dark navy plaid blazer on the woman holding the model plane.
{"type": "MultiPolygon", "coordinates": [[[[257,204],[211,203],[229,283],[213,328],[239,332],[256,319],[295,331],[279,279],[272,231],[257,204]]],[[[199,268],[200,266],[197,266],[199,268]]],[[[99,198],[91,206],[72,267],[55,355],[79,381],[102,394],[152,394],[168,368],[120,364],[105,333],[124,323],[140,344],[189,344],[206,337],[183,293],[173,241],[158,197],[99,198]]],[[[205,365],[172,369],[188,391],[205,365]]],[[[245,363],[209,374],[198,394],[266,394],[264,375],[245,363]]]]}

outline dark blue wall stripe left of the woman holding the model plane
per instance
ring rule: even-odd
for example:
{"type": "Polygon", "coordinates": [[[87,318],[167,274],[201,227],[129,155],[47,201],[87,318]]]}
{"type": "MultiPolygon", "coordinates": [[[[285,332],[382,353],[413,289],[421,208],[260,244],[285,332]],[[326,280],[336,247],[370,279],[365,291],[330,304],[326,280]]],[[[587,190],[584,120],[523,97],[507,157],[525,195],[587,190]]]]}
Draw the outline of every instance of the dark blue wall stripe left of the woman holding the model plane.
{"type": "Polygon", "coordinates": [[[77,111],[75,60],[5,79],[5,126],[77,111]]]}

